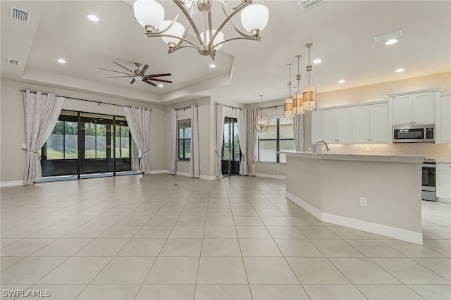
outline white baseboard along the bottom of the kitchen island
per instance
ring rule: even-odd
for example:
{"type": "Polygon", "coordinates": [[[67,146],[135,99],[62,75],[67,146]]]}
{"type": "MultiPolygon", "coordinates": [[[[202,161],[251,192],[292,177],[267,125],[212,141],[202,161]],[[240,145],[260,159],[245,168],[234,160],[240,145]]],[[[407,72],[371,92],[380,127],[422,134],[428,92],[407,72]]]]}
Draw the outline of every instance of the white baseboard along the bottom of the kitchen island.
{"type": "Polygon", "coordinates": [[[331,213],[323,213],[318,208],[312,206],[311,204],[308,204],[302,199],[299,199],[297,196],[291,194],[290,192],[286,192],[285,196],[323,222],[350,227],[357,230],[363,230],[366,232],[375,233],[376,235],[383,235],[385,237],[393,237],[393,239],[400,239],[402,241],[411,242],[414,244],[423,244],[423,234],[420,232],[371,223],[364,220],[347,218],[341,215],[333,215],[331,213]]]}

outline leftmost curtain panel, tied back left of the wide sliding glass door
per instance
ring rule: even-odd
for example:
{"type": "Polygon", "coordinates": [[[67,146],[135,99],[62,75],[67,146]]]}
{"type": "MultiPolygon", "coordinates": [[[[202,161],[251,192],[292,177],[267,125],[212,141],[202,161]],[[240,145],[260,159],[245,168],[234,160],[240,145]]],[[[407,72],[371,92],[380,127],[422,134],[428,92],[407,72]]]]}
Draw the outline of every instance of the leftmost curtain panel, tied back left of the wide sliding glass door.
{"type": "Polygon", "coordinates": [[[41,155],[44,146],[58,122],[64,98],[55,94],[41,92],[23,92],[25,108],[25,142],[27,143],[27,161],[23,174],[23,184],[32,185],[42,179],[41,155]]]}

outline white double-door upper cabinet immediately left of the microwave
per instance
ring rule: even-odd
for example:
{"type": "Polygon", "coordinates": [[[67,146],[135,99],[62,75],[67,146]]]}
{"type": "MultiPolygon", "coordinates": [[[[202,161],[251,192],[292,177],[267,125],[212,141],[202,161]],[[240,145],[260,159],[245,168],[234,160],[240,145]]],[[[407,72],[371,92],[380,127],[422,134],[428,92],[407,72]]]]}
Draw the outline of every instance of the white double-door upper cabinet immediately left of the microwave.
{"type": "Polygon", "coordinates": [[[388,104],[352,108],[352,142],[388,142],[388,104]]]}

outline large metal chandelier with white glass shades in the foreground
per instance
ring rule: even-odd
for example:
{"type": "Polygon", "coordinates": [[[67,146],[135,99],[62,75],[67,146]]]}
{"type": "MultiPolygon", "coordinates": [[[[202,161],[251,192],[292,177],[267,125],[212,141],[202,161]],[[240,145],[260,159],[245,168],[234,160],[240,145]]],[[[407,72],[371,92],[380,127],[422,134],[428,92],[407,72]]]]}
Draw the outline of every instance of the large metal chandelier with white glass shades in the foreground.
{"type": "Polygon", "coordinates": [[[216,29],[212,27],[211,4],[213,0],[173,0],[180,11],[173,20],[164,20],[164,8],[155,0],[137,0],[133,4],[135,18],[142,27],[145,28],[145,37],[161,37],[168,44],[168,53],[173,53],[178,49],[190,47],[197,49],[199,54],[211,56],[214,60],[216,51],[221,46],[235,39],[260,40],[260,32],[268,23],[269,11],[266,6],[252,4],[252,0],[241,0],[235,7],[228,7],[223,0],[218,0],[225,15],[224,20],[216,29]],[[250,35],[240,31],[233,24],[232,18],[241,11],[241,23],[250,35]],[[194,16],[202,14],[202,23],[196,25],[194,16]],[[178,22],[180,14],[185,15],[186,25],[178,22]],[[231,23],[233,29],[238,33],[237,37],[224,39],[221,30],[226,23],[231,23]],[[188,30],[192,27],[195,41],[190,41],[187,37],[188,30]],[[200,30],[199,30],[200,29],[200,30]],[[202,30],[202,31],[201,31],[202,30]]]}

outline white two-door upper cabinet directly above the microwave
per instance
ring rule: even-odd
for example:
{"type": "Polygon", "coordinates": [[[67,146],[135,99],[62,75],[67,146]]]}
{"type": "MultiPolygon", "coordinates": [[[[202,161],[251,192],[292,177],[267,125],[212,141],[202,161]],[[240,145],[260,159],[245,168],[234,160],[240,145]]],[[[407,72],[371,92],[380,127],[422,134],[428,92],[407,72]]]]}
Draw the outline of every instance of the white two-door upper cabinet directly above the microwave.
{"type": "Polygon", "coordinates": [[[434,92],[400,95],[393,98],[393,125],[434,123],[434,92]]]}

